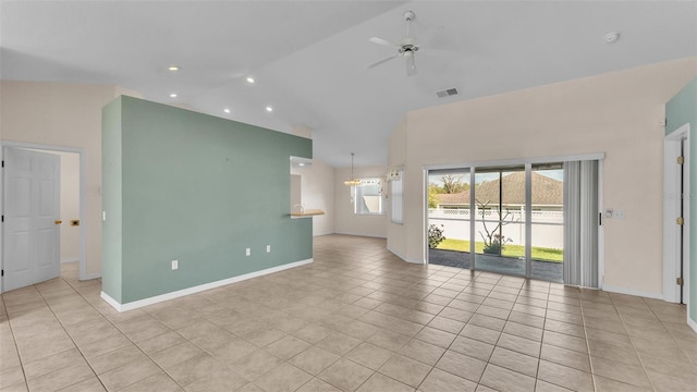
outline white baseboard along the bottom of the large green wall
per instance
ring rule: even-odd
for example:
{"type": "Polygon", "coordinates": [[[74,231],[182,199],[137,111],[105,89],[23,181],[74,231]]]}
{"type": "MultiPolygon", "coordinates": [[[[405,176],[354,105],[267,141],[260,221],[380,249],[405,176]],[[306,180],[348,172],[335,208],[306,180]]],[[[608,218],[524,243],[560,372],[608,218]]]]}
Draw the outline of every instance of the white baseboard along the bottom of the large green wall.
{"type": "Polygon", "coordinates": [[[242,282],[244,280],[248,280],[248,279],[252,279],[252,278],[258,278],[258,277],[262,277],[262,275],[266,275],[266,274],[280,272],[280,271],[283,271],[283,270],[286,270],[286,269],[290,269],[290,268],[304,266],[304,265],[310,264],[314,260],[311,258],[310,259],[306,259],[306,260],[295,261],[295,262],[291,262],[291,264],[286,264],[286,265],[282,265],[282,266],[278,266],[278,267],[273,267],[273,268],[268,268],[268,269],[265,269],[265,270],[261,270],[261,271],[249,272],[249,273],[246,273],[246,274],[243,274],[243,275],[239,275],[239,277],[232,277],[232,278],[219,280],[219,281],[216,281],[216,282],[205,283],[205,284],[200,284],[200,285],[197,285],[197,286],[179,290],[179,291],[167,293],[167,294],[156,295],[154,297],[149,297],[149,298],[145,298],[145,299],[138,299],[138,301],[130,302],[130,303],[126,303],[126,304],[119,304],[118,301],[115,301],[114,298],[109,296],[109,294],[105,293],[103,291],[101,292],[101,298],[105,299],[107,302],[107,304],[111,305],[118,311],[133,310],[133,309],[137,309],[139,307],[143,307],[143,306],[154,305],[154,304],[158,304],[158,303],[161,303],[161,302],[164,302],[164,301],[179,298],[179,297],[182,297],[182,296],[185,296],[185,295],[200,293],[200,292],[206,291],[206,290],[211,290],[211,289],[224,286],[224,285],[228,285],[228,284],[242,282]]]}

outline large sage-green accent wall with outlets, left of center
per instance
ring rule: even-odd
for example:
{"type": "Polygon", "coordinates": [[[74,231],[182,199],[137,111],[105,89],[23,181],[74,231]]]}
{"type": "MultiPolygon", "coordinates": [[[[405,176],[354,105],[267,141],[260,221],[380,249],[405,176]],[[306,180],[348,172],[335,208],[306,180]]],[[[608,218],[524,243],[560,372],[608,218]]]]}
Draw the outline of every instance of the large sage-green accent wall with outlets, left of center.
{"type": "Polygon", "coordinates": [[[131,97],[103,121],[102,281],[121,304],[313,257],[311,219],[290,218],[310,139],[131,97]]]}

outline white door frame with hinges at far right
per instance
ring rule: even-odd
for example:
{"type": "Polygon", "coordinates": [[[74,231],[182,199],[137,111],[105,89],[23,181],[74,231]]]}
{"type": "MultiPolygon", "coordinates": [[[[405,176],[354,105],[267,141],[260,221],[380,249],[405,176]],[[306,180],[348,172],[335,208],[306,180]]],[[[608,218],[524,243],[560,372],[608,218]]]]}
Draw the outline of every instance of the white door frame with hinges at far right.
{"type": "MultiPolygon", "coordinates": [[[[683,252],[683,295],[689,298],[689,197],[685,197],[683,207],[683,249],[681,249],[681,231],[675,219],[680,217],[681,196],[676,194],[680,186],[681,171],[676,163],[681,155],[681,140],[685,139],[684,152],[684,192],[689,193],[689,123],[678,127],[663,142],[663,301],[678,303],[681,286],[675,283],[680,273],[680,252],[683,252]]],[[[689,318],[689,316],[688,316],[689,318]]]]}

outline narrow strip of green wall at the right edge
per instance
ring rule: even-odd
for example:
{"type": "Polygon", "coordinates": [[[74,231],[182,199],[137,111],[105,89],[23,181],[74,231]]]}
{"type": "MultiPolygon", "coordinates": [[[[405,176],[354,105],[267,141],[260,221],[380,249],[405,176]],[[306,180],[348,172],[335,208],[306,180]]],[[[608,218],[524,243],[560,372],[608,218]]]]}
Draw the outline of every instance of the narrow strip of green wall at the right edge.
{"type": "MultiPolygon", "coordinates": [[[[688,83],[665,105],[665,134],[689,123],[689,194],[697,195],[697,77],[688,83]]],[[[689,209],[689,315],[697,323],[697,205],[689,209]]]]}

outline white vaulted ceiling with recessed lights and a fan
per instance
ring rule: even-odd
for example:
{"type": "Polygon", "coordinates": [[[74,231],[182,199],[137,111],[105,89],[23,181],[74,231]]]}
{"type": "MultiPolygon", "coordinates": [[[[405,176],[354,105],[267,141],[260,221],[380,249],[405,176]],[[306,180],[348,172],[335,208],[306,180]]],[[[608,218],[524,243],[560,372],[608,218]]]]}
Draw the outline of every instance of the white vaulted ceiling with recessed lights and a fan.
{"type": "Polygon", "coordinates": [[[118,84],[282,132],[307,126],[316,158],[346,167],[355,151],[367,166],[387,162],[409,110],[696,56],[697,1],[2,0],[0,50],[4,79],[118,84]],[[418,74],[402,59],[368,70],[392,54],[368,38],[399,42],[406,10],[417,38],[442,27],[416,54],[418,74]],[[610,32],[620,40],[607,44],[610,32]],[[437,98],[451,87],[460,95],[437,98]]]}

